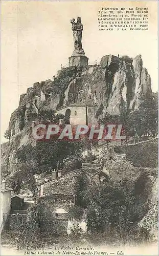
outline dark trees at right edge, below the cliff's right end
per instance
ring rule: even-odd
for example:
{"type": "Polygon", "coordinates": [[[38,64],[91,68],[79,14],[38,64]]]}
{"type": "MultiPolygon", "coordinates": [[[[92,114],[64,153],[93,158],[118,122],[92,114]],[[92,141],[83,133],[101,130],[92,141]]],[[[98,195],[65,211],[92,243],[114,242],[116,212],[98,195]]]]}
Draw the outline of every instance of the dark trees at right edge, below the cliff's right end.
{"type": "MultiPolygon", "coordinates": [[[[101,123],[112,123],[123,125],[123,135],[126,143],[129,137],[138,137],[138,142],[143,135],[156,137],[158,132],[158,94],[153,93],[152,99],[144,99],[138,110],[128,110],[120,115],[106,113],[100,120],[101,123]]],[[[122,142],[122,141],[121,141],[122,142]]],[[[135,143],[135,139],[134,139],[135,143]]]]}

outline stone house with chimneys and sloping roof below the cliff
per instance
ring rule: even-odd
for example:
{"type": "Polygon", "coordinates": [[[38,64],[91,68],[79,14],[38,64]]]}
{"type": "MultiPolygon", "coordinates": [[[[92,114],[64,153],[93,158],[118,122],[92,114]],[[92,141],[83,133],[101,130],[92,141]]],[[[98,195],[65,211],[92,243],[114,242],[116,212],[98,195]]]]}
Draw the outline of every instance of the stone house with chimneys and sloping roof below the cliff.
{"type": "Polygon", "coordinates": [[[43,231],[67,232],[68,210],[77,202],[82,169],[61,175],[52,172],[52,178],[38,185],[40,226],[43,231]]]}

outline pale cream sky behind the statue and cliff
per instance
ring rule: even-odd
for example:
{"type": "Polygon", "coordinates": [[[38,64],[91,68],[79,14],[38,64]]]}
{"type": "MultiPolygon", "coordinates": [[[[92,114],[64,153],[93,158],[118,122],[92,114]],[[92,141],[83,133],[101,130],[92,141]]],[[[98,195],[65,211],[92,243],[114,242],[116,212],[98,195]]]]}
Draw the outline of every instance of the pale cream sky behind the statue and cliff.
{"type": "Polygon", "coordinates": [[[109,54],[141,54],[157,91],[157,9],[157,1],[1,1],[1,143],[20,95],[68,66],[74,50],[71,18],[81,17],[89,63],[109,54]],[[148,7],[149,30],[99,31],[102,7],[148,7]]]}

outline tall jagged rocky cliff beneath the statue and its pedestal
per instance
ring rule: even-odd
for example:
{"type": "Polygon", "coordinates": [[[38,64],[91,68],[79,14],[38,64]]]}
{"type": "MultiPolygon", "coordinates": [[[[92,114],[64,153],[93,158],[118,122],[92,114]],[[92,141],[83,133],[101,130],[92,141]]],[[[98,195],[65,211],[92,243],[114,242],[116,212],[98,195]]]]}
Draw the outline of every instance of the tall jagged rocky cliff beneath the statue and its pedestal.
{"type": "Polygon", "coordinates": [[[98,115],[120,114],[138,109],[151,96],[151,78],[141,55],[134,59],[106,55],[99,65],[62,68],[54,80],[36,82],[20,96],[9,122],[10,142],[2,146],[3,166],[14,172],[17,148],[35,143],[29,126],[43,106],[49,110],[66,105],[97,106],[98,115]]]}

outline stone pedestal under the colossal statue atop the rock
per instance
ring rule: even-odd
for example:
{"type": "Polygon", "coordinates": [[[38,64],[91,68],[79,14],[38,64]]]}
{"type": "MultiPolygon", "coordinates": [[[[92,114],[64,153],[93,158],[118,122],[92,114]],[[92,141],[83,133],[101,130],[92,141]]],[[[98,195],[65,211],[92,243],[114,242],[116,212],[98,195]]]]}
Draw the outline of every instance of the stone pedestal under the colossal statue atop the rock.
{"type": "Polygon", "coordinates": [[[75,50],[69,58],[69,67],[87,66],[88,58],[85,56],[83,50],[75,50]]]}

